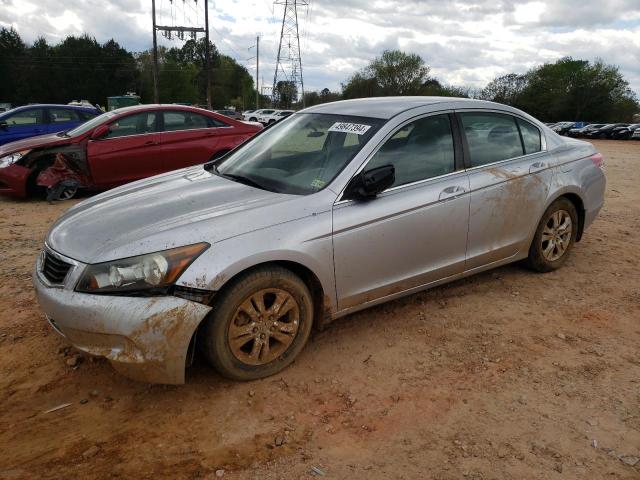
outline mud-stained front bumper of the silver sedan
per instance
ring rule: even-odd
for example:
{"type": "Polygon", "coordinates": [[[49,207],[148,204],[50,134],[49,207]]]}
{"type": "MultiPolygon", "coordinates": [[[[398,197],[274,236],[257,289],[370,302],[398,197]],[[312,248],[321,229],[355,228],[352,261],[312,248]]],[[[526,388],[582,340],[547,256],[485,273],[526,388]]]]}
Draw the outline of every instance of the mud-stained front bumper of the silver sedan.
{"type": "Polygon", "coordinates": [[[84,265],[62,258],[73,265],[62,285],[51,285],[42,275],[41,258],[33,273],[38,303],[52,327],[79,350],[106,357],[129,378],[184,383],[191,338],[211,307],[171,296],[78,293],[73,288],[84,265]]]}

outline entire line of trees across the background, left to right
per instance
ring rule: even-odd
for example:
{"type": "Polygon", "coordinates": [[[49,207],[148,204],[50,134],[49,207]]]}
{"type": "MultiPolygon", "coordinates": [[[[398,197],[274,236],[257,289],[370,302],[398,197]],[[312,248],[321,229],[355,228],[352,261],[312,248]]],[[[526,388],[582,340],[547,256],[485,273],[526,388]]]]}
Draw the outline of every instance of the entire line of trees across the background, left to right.
{"type": "MultiPolygon", "coordinates": [[[[214,108],[255,105],[256,90],[248,70],[210,43],[214,108]]],[[[160,100],[204,104],[205,41],[188,40],[180,48],[159,49],[160,100]]],[[[153,56],[150,50],[129,52],[115,40],[103,44],[88,35],[69,36],[57,45],[44,38],[26,45],[14,29],[0,29],[0,102],[67,103],[136,92],[143,103],[153,101],[153,56]]],[[[276,85],[277,108],[302,108],[341,99],[435,95],[473,97],[520,108],[544,121],[593,122],[631,120],[640,105],[618,67],[602,60],[570,57],[531,68],[523,74],[495,78],[482,89],[447,85],[431,75],[416,54],[384,51],[341,85],[299,95],[291,82],[276,85]],[[304,100],[304,101],[303,101],[304,100]]],[[[271,98],[261,95],[261,106],[271,98]]]]}

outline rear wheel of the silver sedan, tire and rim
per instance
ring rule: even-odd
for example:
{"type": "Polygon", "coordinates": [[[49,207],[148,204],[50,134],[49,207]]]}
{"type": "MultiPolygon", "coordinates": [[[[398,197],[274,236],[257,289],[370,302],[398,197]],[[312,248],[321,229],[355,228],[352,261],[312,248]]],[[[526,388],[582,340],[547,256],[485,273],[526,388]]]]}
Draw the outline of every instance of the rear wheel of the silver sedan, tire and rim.
{"type": "Polygon", "coordinates": [[[551,272],[560,268],[578,234],[578,212],[566,198],[553,202],[542,215],[526,265],[537,272],[551,272]]]}

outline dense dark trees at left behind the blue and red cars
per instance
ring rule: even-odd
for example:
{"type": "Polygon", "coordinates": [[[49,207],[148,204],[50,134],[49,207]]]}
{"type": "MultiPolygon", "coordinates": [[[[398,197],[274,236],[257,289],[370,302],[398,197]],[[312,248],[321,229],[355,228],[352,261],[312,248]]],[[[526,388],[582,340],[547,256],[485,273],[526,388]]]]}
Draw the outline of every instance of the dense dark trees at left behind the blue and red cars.
{"type": "MultiPolygon", "coordinates": [[[[159,94],[165,103],[206,103],[205,40],[158,49],[159,94]]],[[[252,76],[210,43],[212,105],[249,108],[255,103],[252,76]]],[[[103,44],[89,35],[68,36],[57,45],[44,38],[26,45],[13,28],[0,29],[0,102],[67,103],[135,92],[153,102],[153,54],[129,52],[115,40],[103,44]]],[[[263,102],[267,101],[263,98],[263,102]]],[[[264,104],[264,103],[263,103],[264,104]]]]}

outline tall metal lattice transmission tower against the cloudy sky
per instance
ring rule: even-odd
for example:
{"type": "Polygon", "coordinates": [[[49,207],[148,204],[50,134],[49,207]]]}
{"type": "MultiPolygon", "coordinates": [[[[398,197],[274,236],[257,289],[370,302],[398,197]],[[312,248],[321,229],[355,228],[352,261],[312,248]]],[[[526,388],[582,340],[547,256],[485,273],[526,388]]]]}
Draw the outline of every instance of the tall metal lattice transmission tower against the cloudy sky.
{"type": "Polygon", "coordinates": [[[298,7],[307,7],[306,0],[276,0],[276,5],[284,5],[282,30],[276,72],[273,75],[271,102],[274,107],[284,104],[291,107],[301,95],[304,107],[304,81],[302,80],[302,57],[300,55],[300,34],[298,32],[298,7]]]}

